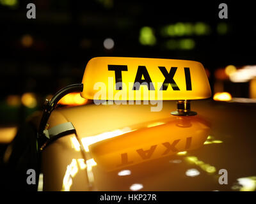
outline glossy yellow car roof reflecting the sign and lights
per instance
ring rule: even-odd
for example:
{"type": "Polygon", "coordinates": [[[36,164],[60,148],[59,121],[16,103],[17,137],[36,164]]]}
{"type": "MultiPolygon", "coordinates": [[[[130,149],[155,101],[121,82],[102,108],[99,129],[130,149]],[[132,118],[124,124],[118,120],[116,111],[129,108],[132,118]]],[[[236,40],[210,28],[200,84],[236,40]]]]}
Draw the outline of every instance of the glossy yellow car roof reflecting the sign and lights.
{"type": "Polygon", "coordinates": [[[54,110],[49,128],[72,122],[76,135],[43,150],[44,190],[255,190],[255,104],[192,101],[198,115],[184,117],[170,115],[175,101],[161,112],[151,106],[54,110]],[[219,183],[221,169],[228,184],[219,183]]]}

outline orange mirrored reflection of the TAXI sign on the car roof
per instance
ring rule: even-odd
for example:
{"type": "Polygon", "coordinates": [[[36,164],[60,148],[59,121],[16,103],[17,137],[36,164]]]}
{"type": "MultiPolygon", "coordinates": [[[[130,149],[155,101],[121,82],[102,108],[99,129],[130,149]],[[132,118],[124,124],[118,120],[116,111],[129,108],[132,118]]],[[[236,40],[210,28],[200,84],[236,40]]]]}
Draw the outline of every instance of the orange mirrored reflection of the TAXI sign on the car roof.
{"type": "Polygon", "coordinates": [[[140,124],[136,131],[93,143],[88,147],[89,152],[104,170],[118,170],[198,149],[204,145],[211,126],[200,116],[172,117],[162,121],[163,124],[147,128],[140,124]]]}

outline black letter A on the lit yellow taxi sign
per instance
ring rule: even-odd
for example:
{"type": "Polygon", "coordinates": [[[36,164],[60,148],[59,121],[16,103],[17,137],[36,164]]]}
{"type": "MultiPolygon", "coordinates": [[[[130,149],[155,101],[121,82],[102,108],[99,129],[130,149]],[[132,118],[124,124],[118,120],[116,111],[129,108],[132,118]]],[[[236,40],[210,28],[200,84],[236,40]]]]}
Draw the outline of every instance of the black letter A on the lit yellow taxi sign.
{"type": "Polygon", "coordinates": [[[138,70],[137,70],[137,73],[136,73],[136,77],[135,77],[135,81],[134,81],[134,85],[132,87],[132,90],[139,90],[140,89],[140,85],[137,86],[136,84],[147,85],[148,90],[155,90],[155,87],[152,84],[152,80],[149,77],[147,68],[145,66],[138,66],[138,70]],[[142,79],[142,76],[144,77],[144,79],[142,79]],[[145,83],[143,83],[143,82],[145,82],[145,83]]]}

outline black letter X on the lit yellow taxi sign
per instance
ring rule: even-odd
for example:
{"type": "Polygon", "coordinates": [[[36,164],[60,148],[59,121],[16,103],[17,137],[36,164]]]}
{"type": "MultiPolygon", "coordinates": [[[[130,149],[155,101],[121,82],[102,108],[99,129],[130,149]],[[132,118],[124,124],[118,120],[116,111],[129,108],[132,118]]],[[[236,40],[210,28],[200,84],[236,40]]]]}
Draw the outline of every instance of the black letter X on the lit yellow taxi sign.
{"type": "Polygon", "coordinates": [[[173,80],[177,68],[172,67],[169,73],[164,66],[159,66],[159,69],[165,77],[163,85],[161,86],[160,90],[166,90],[168,88],[168,85],[171,84],[173,90],[179,91],[179,87],[173,80]]]}

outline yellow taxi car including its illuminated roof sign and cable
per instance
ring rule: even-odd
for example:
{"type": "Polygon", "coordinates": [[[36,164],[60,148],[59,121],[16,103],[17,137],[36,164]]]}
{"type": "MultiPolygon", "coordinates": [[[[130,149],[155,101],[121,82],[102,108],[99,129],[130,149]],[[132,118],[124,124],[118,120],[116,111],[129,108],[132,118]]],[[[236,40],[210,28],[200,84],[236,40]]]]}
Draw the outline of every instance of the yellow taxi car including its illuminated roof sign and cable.
{"type": "Polygon", "coordinates": [[[210,97],[200,62],[95,57],[20,129],[6,165],[28,190],[255,191],[255,105],[210,97]],[[93,103],[56,108],[70,92],[93,103]]]}

